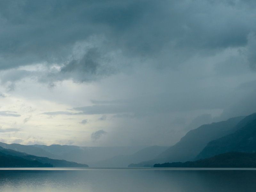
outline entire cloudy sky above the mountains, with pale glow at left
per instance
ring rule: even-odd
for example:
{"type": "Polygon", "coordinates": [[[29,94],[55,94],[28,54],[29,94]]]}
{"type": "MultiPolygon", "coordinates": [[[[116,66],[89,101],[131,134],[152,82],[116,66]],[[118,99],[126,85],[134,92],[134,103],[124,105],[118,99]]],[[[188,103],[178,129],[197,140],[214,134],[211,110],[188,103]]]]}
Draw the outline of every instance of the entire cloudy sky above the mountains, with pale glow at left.
{"type": "Polygon", "coordinates": [[[256,112],[253,0],[0,1],[0,141],[175,144],[256,112]]]}

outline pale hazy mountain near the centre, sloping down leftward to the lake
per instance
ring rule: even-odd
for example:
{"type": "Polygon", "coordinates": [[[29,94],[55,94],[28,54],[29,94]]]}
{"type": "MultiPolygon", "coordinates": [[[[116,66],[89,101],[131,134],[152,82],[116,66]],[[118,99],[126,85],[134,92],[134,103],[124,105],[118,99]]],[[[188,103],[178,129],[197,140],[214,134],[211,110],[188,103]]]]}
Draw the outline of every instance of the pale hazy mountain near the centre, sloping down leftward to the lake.
{"type": "Polygon", "coordinates": [[[165,146],[150,146],[143,148],[131,155],[114,156],[112,158],[90,163],[91,167],[127,167],[132,162],[141,162],[148,159],[153,159],[168,147],[165,146]]]}

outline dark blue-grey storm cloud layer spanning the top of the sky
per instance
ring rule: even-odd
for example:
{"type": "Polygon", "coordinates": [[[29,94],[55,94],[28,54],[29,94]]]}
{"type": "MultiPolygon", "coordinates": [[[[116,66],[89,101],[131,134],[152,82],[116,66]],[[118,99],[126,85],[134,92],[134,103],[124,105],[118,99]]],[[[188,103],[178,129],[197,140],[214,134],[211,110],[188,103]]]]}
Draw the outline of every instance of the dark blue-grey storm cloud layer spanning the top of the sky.
{"type": "Polygon", "coordinates": [[[250,34],[256,29],[252,25],[256,13],[250,6],[254,5],[203,0],[1,1],[0,68],[38,62],[61,67],[41,76],[23,70],[2,81],[24,76],[37,76],[41,82],[91,81],[133,65],[129,58],[177,66],[194,55],[247,45],[245,54],[253,67],[255,37],[250,34]],[[92,44],[76,58],[72,50],[81,42],[92,44]],[[115,51],[128,61],[113,66],[109,54],[115,51]]]}

